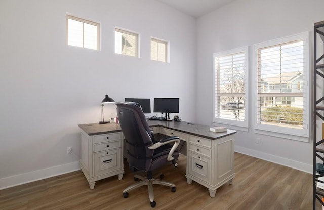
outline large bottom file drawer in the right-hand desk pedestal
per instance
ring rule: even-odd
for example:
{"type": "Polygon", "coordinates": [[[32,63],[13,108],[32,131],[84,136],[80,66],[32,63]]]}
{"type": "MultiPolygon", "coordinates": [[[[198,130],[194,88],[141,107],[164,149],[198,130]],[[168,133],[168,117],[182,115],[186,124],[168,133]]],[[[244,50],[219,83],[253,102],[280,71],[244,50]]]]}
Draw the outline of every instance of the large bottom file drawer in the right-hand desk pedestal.
{"type": "Polygon", "coordinates": [[[188,173],[204,182],[211,184],[211,160],[189,151],[188,173]]]}

